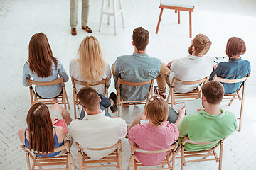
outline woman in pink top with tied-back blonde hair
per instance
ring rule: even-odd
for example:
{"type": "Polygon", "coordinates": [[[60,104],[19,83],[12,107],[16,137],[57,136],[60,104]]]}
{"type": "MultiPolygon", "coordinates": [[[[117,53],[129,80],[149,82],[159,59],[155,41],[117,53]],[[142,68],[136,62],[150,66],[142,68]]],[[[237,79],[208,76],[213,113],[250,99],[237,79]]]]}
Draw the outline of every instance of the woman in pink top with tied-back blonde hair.
{"type": "MultiPolygon", "coordinates": [[[[170,147],[178,139],[176,125],[169,124],[169,106],[160,96],[153,96],[144,111],[149,123],[137,124],[129,130],[129,143],[139,149],[160,150],[170,147]]],[[[179,122],[179,121],[178,121],[179,122]]],[[[161,164],[167,152],[144,154],[135,152],[135,157],[146,166],[161,164]]]]}

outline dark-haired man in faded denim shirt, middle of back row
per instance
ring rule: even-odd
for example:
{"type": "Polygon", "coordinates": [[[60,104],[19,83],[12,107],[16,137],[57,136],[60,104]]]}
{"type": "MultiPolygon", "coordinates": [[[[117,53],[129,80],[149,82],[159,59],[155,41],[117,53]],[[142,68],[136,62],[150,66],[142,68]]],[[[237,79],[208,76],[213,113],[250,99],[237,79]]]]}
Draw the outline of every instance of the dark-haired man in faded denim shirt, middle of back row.
{"type": "MultiPolygon", "coordinates": [[[[146,45],[148,44],[149,32],[142,27],[136,28],[132,35],[134,53],[117,57],[112,65],[115,89],[117,89],[118,77],[124,81],[143,82],[156,79],[159,75],[161,62],[159,59],[149,57],[146,54],[146,45]]],[[[150,84],[143,86],[122,85],[121,98],[124,101],[145,100],[149,89],[150,84]]]]}

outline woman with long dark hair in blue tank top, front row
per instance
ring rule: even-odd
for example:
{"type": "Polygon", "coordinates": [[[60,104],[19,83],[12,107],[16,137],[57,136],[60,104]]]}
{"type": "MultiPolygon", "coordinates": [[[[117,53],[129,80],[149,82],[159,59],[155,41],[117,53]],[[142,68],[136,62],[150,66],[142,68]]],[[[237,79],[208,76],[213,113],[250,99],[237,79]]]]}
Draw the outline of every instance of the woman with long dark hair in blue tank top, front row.
{"type": "MultiPolygon", "coordinates": [[[[37,152],[37,157],[54,157],[60,152],[53,152],[57,147],[64,145],[64,140],[69,140],[69,147],[72,145],[72,138],[66,134],[61,126],[53,126],[54,120],[58,118],[69,117],[64,108],[55,104],[50,111],[48,107],[39,102],[35,103],[28,111],[26,122],[28,128],[18,131],[18,136],[26,147],[37,152]],[[62,111],[60,110],[62,109],[62,111]],[[65,138],[67,136],[67,138],[65,138]]],[[[71,119],[71,118],[70,118],[71,119]]],[[[68,119],[67,119],[68,120],[68,119]]],[[[72,119],[71,119],[72,120],[72,119]]]]}

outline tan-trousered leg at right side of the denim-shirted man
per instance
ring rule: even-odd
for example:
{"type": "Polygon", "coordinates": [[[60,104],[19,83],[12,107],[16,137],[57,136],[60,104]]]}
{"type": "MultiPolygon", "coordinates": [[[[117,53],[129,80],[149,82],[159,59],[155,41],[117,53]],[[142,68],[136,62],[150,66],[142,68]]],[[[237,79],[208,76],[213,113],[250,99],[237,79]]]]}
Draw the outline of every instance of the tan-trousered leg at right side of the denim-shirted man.
{"type": "Polygon", "coordinates": [[[156,77],[157,86],[160,93],[166,92],[166,84],[170,86],[169,75],[171,70],[166,67],[166,64],[161,62],[161,69],[159,76],[156,77]]]}

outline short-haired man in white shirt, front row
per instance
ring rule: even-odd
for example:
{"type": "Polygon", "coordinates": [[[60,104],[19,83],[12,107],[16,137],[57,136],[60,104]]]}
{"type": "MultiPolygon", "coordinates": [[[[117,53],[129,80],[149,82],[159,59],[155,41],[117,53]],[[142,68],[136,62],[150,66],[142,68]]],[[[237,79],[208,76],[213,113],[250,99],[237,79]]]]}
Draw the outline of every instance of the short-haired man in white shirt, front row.
{"type": "MultiPolygon", "coordinates": [[[[100,110],[100,96],[89,86],[82,88],[78,98],[87,115],[82,120],[72,120],[69,125],[70,134],[75,142],[82,147],[110,147],[127,134],[127,124],[122,118],[105,116],[100,110]]],[[[90,151],[85,153],[91,159],[101,159],[112,153],[115,148],[104,151],[90,151]]]]}

